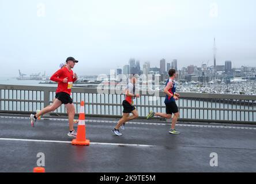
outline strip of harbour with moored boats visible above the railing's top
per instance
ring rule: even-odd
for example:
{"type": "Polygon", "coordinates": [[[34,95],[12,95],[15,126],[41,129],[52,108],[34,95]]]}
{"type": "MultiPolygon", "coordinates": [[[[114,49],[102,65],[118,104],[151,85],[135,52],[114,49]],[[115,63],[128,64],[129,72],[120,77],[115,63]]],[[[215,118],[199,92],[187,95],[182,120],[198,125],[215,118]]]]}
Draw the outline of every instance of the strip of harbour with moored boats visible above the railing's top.
{"type": "MultiPolygon", "coordinates": [[[[52,81],[37,81],[37,80],[23,80],[20,81],[16,78],[0,78],[0,84],[3,85],[28,85],[28,86],[51,86],[57,87],[56,82],[52,81]]],[[[89,87],[96,88],[98,86],[103,86],[104,89],[122,89],[125,85],[120,85],[120,83],[109,83],[102,81],[93,81],[93,79],[83,79],[74,83],[73,87],[89,87]]],[[[165,85],[160,83],[159,85],[154,85],[148,83],[140,83],[136,85],[137,90],[155,90],[163,91],[165,85]]],[[[256,81],[241,81],[236,83],[179,83],[177,82],[177,91],[179,92],[191,92],[191,93],[213,93],[213,94],[241,94],[241,95],[256,95],[256,81]]]]}

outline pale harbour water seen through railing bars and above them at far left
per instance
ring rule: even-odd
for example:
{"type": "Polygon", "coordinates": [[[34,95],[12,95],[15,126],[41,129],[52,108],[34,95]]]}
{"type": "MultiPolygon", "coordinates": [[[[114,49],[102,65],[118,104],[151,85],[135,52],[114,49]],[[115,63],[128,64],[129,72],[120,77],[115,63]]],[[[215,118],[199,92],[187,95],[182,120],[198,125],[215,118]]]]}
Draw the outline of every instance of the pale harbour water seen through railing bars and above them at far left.
{"type": "MultiPolygon", "coordinates": [[[[57,84],[39,84],[40,81],[19,81],[16,78],[0,78],[0,84],[3,85],[24,85],[24,86],[54,86],[57,84]]],[[[1,91],[1,98],[4,97],[4,90],[1,91]]],[[[21,91],[19,94],[8,94],[10,99],[28,99],[29,94],[27,92],[21,91]],[[12,96],[13,95],[13,96],[12,96]],[[17,95],[17,96],[16,96],[17,95]]],[[[7,96],[7,95],[6,95],[7,96]]],[[[30,97],[32,95],[30,94],[30,97]]],[[[54,93],[52,93],[50,100],[54,98],[54,93]]],[[[122,114],[122,101],[125,98],[124,95],[102,95],[102,94],[76,94],[74,93],[72,98],[74,102],[85,101],[88,103],[99,103],[103,102],[105,104],[110,104],[108,106],[103,105],[85,105],[85,113],[87,114],[122,114]],[[101,101],[100,101],[101,100],[101,101]],[[111,104],[120,104],[120,106],[111,106],[111,104]]],[[[43,100],[43,95],[40,94],[39,100],[43,100]]],[[[138,112],[140,116],[146,116],[150,110],[155,110],[159,112],[165,112],[165,108],[154,108],[154,106],[164,106],[164,97],[156,98],[155,100],[150,99],[150,97],[142,96],[141,98],[135,99],[135,105],[149,105],[151,107],[138,107],[138,112]]],[[[209,101],[198,101],[194,99],[180,99],[177,101],[177,105],[180,107],[180,117],[181,118],[197,118],[197,119],[212,119],[215,117],[216,120],[237,120],[237,121],[252,121],[256,120],[256,113],[252,112],[241,112],[239,109],[254,110],[255,102],[253,104],[239,104],[239,103],[227,103],[218,100],[209,101]],[[183,108],[182,108],[183,107],[183,108]],[[186,107],[196,107],[196,108],[220,108],[227,110],[195,110],[186,109],[186,107]],[[230,109],[230,110],[229,110],[230,109]],[[238,109],[234,111],[232,109],[238,109]]],[[[76,105],[76,112],[78,112],[79,105],[76,105]]],[[[21,110],[21,111],[31,111],[36,109],[42,109],[43,104],[31,103],[31,102],[7,102],[1,101],[1,110],[21,110]]],[[[65,108],[59,108],[58,113],[65,113],[65,108]]]]}

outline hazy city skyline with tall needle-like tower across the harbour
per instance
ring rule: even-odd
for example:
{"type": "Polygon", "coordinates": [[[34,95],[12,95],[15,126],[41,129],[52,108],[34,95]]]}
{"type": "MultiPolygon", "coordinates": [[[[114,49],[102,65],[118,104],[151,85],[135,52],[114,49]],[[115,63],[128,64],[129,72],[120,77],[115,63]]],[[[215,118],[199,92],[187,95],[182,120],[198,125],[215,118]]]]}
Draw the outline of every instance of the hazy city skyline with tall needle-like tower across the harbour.
{"type": "MultiPolygon", "coordinates": [[[[214,39],[215,43],[215,39],[214,39]]],[[[215,44],[214,44],[215,46],[215,44]]],[[[216,47],[214,47],[216,48],[216,47]]],[[[215,51],[215,49],[213,49],[215,51]]],[[[216,54],[214,52],[214,59],[216,58],[216,54]]],[[[150,62],[145,62],[142,66],[142,70],[140,70],[140,62],[136,62],[135,59],[130,59],[129,64],[123,67],[124,72],[122,73],[121,69],[116,69],[116,74],[144,74],[148,76],[160,76],[160,81],[164,82],[166,78],[168,78],[168,70],[175,69],[176,70],[176,79],[183,83],[193,82],[193,83],[230,83],[231,81],[246,81],[246,80],[255,80],[256,79],[256,67],[250,66],[240,66],[240,67],[232,67],[232,61],[226,60],[221,65],[216,65],[214,62],[213,65],[208,65],[207,63],[202,62],[201,66],[196,66],[194,64],[190,64],[189,66],[183,66],[178,70],[178,60],[173,59],[171,63],[166,63],[165,59],[161,59],[159,61],[159,67],[150,67],[150,62]],[[128,70],[125,68],[128,68],[128,70]],[[129,68],[133,68],[133,70],[129,70],[129,68]]]]}

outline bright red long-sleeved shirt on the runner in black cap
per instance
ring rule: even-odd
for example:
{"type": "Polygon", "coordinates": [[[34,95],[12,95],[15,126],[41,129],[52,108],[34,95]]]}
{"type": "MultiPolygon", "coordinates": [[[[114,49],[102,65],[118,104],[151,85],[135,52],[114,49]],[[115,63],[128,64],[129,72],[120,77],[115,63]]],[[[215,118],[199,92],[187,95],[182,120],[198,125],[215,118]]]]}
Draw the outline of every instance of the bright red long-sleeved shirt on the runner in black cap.
{"type": "Polygon", "coordinates": [[[73,78],[73,71],[68,70],[67,67],[59,69],[50,78],[51,81],[58,82],[56,93],[65,92],[70,95],[73,82],[77,81],[77,78],[73,78]],[[67,83],[63,82],[63,79],[67,77],[67,83]]]}

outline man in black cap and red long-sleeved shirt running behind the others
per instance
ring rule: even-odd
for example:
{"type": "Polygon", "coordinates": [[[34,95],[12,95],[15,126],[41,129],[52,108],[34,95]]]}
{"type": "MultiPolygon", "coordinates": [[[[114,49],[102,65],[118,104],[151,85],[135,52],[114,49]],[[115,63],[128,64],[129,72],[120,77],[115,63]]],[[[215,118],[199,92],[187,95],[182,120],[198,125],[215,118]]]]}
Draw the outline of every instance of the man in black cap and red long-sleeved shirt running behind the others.
{"type": "Polygon", "coordinates": [[[31,114],[31,125],[32,127],[35,126],[35,122],[37,117],[42,116],[43,114],[46,114],[48,112],[53,112],[54,110],[58,109],[59,106],[62,104],[65,105],[67,108],[68,116],[69,116],[69,133],[68,136],[76,137],[77,133],[74,131],[74,114],[75,114],[75,108],[73,104],[73,99],[70,97],[71,88],[73,86],[73,83],[77,80],[77,74],[73,74],[73,71],[71,70],[74,68],[75,64],[78,63],[74,57],[67,57],[66,59],[66,67],[61,68],[57,72],[55,72],[54,75],[51,76],[51,81],[58,82],[58,87],[56,90],[56,96],[55,100],[52,105],[47,106],[43,110],[41,110],[39,113],[31,114]]]}

